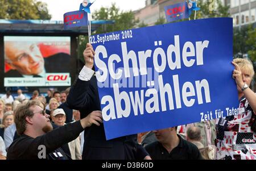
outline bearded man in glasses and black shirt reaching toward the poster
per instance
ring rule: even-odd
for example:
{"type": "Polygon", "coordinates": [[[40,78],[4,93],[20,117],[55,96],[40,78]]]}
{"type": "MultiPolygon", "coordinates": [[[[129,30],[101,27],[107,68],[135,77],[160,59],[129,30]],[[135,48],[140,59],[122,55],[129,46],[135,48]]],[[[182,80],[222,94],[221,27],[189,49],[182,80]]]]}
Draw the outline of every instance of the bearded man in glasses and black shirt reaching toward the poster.
{"type": "Polygon", "coordinates": [[[19,135],[7,151],[7,159],[70,159],[61,145],[75,140],[85,127],[100,126],[101,111],[93,111],[85,118],[52,130],[52,125],[39,101],[29,101],[15,110],[15,124],[19,135]]]}

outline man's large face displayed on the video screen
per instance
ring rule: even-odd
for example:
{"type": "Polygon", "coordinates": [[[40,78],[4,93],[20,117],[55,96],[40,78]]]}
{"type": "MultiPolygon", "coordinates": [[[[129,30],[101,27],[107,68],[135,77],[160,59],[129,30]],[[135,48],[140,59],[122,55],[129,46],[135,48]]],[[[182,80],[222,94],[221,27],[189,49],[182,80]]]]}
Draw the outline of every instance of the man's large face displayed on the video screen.
{"type": "Polygon", "coordinates": [[[7,61],[21,74],[35,75],[43,72],[44,58],[35,43],[10,41],[5,43],[7,61]]]}

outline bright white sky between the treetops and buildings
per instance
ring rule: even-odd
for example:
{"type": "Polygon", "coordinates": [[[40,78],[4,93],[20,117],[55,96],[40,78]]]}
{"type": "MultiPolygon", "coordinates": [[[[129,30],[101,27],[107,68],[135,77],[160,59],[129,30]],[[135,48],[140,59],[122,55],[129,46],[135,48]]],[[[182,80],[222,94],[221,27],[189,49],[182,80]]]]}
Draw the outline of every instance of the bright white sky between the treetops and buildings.
{"type": "MultiPolygon", "coordinates": [[[[49,14],[52,15],[51,20],[63,20],[63,14],[65,12],[79,10],[82,0],[40,0],[47,3],[49,14]]],[[[119,9],[123,11],[138,10],[145,6],[145,0],[96,0],[90,7],[91,12],[103,7],[110,7],[112,3],[115,3],[119,9]]],[[[43,10],[44,5],[39,6],[39,9],[43,10]]]]}

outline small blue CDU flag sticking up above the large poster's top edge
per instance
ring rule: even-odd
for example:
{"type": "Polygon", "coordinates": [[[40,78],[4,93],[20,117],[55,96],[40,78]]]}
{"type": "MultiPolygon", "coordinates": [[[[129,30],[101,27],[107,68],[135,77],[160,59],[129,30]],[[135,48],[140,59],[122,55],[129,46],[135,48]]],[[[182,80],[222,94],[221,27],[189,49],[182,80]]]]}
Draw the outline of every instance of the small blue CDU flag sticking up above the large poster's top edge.
{"type": "Polygon", "coordinates": [[[173,22],[178,19],[189,18],[187,2],[165,6],[164,11],[166,12],[167,22],[173,22]]]}

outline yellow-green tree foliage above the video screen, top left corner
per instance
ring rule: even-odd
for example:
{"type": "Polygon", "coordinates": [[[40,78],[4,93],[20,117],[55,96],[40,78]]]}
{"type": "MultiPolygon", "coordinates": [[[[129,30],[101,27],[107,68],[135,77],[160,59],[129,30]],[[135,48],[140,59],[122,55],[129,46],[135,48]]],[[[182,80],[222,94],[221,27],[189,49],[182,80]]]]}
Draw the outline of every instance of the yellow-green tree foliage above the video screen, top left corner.
{"type": "Polygon", "coordinates": [[[0,18],[2,19],[51,19],[47,4],[33,0],[0,0],[0,18]]]}

